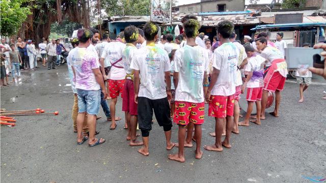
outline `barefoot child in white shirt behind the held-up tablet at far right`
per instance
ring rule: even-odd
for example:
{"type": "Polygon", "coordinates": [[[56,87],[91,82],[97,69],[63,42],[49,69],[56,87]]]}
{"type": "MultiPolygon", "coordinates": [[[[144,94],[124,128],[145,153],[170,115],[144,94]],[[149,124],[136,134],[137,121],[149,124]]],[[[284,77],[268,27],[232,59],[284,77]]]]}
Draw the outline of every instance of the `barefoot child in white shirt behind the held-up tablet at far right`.
{"type": "MultiPolygon", "coordinates": [[[[309,48],[310,44],[305,43],[303,44],[304,48],[309,48]]],[[[299,92],[300,92],[300,100],[298,102],[304,102],[304,92],[308,88],[309,84],[311,83],[311,71],[308,70],[308,66],[306,65],[299,65],[298,69],[296,70],[296,82],[300,84],[299,92]]]]}

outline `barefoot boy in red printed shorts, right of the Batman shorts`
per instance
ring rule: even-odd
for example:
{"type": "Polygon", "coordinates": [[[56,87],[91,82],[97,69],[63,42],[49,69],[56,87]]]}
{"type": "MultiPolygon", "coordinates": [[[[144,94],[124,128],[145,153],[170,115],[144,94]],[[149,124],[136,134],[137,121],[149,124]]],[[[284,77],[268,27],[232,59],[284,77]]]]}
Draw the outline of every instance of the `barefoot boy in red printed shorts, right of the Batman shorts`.
{"type": "Polygon", "coordinates": [[[215,143],[204,146],[206,150],[222,151],[231,148],[230,137],[233,129],[234,94],[237,77],[239,50],[230,41],[234,24],[222,21],[216,26],[222,45],[213,56],[213,73],[210,76],[206,100],[209,101],[208,115],[215,117],[215,143]],[[226,137],[222,142],[223,120],[226,118],[226,137]]]}

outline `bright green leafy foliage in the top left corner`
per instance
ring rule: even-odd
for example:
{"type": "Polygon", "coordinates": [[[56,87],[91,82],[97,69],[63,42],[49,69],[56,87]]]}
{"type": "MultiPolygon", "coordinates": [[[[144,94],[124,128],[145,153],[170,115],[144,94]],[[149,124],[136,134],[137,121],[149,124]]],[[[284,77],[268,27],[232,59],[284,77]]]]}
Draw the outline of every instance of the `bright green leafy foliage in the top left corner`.
{"type": "Polygon", "coordinates": [[[33,0],[1,0],[0,29],[3,36],[16,35],[21,23],[32,14],[28,3],[33,0]],[[26,6],[27,5],[27,6],[26,6]]]}

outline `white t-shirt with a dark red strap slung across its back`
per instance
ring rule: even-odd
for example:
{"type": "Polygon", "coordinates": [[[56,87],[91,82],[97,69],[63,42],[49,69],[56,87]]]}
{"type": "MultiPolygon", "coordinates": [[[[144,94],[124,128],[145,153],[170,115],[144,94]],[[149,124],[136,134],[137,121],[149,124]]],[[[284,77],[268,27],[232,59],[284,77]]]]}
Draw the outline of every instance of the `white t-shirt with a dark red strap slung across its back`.
{"type": "MultiPolygon", "coordinates": [[[[110,42],[104,47],[101,57],[102,58],[107,57],[112,65],[115,62],[117,62],[117,60],[122,58],[122,51],[124,50],[125,47],[126,47],[126,45],[119,41],[110,42]]],[[[121,79],[125,78],[126,72],[123,68],[122,59],[118,63],[116,63],[114,66],[111,67],[109,75],[110,76],[108,76],[107,79],[121,80],[121,79]],[[115,66],[117,66],[117,67],[115,67],[115,66]]]]}

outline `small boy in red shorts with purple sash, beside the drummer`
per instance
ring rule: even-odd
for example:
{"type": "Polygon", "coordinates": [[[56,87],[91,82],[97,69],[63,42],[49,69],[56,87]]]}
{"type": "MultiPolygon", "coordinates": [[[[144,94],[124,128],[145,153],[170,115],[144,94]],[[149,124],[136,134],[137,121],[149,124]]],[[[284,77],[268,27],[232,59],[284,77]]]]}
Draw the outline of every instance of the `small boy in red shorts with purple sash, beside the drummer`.
{"type": "Polygon", "coordinates": [[[261,97],[263,94],[263,86],[264,86],[264,65],[265,65],[265,58],[256,55],[255,49],[250,46],[246,45],[244,47],[246,49],[246,53],[248,56],[248,64],[247,67],[244,68],[244,71],[248,72],[248,76],[246,81],[244,81],[241,87],[241,93],[244,91],[244,87],[247,87],[247,101],[248,101],[248,108],[247,114],[244,118],[244,121],[241,121],[238,125],[239,126],[249,126],[249,119],[251,112],[253,111],[254,102],[256,103],[257,107],[257,116],[256,120],[250,120],[251,122],[260,125],[260,110],[261,110],[261,97]]]}

